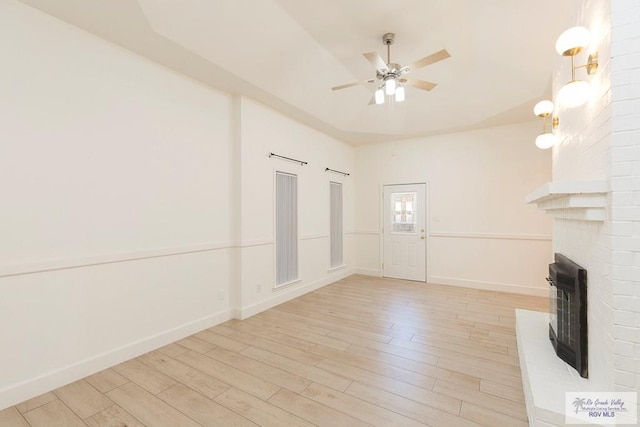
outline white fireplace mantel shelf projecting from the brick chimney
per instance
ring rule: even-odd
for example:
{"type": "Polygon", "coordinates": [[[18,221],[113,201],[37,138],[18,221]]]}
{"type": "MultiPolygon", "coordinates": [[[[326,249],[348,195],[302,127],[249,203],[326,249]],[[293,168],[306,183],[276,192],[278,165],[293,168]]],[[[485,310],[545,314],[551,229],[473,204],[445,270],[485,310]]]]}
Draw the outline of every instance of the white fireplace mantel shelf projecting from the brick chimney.
{"type": "Polygon", "coordinates": [[[554,218],[604,221],[607,217],[607,181],[549,182],[527,197],[554,218]]]}

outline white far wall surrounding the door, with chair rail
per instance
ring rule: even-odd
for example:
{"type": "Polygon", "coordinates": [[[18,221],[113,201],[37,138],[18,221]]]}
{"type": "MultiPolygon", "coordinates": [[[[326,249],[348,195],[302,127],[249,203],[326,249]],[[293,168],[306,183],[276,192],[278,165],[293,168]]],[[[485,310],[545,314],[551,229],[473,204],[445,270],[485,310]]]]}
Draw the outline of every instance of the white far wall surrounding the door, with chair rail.
{"type": "Polygon", "coordinates": [[[427,280],[547,295],[550,220],[523,203],[550,177],[537,122],[359,147],[356,265],[381,274],[384,184],[426,182],[427,280]]]}

